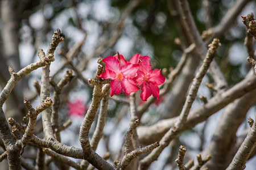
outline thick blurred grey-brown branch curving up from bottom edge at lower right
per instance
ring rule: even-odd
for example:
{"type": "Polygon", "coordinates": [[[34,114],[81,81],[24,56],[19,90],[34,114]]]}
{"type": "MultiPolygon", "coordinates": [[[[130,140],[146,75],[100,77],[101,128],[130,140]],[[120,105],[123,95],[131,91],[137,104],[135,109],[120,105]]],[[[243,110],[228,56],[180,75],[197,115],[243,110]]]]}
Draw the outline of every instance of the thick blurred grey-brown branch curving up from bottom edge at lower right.
{"type": "Polygon", "coordinates": [[[209,169],[228,167],[233,158],[237,129],[245,120],[247,111],[255,104],[255,93],[256,90],[248,92],[225,107],[212,141],[202,153],[203,156],[212,155],[212,159],[204,167],[209,169]]]}

